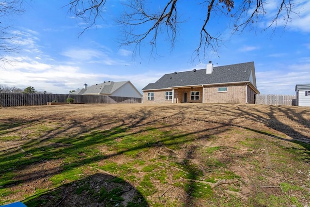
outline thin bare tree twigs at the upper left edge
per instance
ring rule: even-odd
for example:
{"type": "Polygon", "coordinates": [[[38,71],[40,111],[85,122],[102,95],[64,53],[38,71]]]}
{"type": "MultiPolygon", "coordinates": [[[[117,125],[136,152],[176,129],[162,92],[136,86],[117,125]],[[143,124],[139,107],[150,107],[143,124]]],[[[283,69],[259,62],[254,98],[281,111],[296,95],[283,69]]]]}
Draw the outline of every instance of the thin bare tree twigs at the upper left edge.
{"type": "Polygon", "coordinates": [[[11,33],[11,19],[14,15],[23,12],[21,8],[23,0],[1,0],[0,1],[0,61],[9,62],[4,56],[8,52],[16,51],[14,43],[15,34],[11,33]]]}

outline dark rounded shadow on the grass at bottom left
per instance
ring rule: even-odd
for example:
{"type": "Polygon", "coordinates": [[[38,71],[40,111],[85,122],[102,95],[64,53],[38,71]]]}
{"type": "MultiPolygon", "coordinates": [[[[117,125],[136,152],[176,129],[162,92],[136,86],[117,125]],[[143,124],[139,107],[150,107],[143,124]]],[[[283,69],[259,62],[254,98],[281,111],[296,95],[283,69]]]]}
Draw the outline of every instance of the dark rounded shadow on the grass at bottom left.
{"type": "Polygon", "coordinates": [[[23,203],[27,207],[149,207],[134,186],[121,178],[102,173],[36,194],[23,203]]]}

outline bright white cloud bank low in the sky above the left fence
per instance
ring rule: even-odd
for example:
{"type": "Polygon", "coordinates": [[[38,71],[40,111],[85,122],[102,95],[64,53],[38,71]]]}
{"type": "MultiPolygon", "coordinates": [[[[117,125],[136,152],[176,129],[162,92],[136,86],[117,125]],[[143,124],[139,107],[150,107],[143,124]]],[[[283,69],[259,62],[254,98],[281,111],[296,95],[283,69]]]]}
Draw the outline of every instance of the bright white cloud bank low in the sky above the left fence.
{"type": "MultiPolygon", "coordinates": [[[[85,51],[84,51],[85,52],[85,51]]],[[[93,56],[98,56],[93,51],[88,51],[93,56]]],[[[73,56],[76,58],[76,56],[73,56]]],[[[12,57],[11,57],[12,58],[12,57]]],[[[15,86],[20,89],[25,89],[28,86],[34,87],[37,91],[47,91],[55,94],[68,94],[70,90],[76,90],[83,87],[83,83],[89,85],[101,83],[104,80],[123,81],[130,80],[138,90],[141,90],[149,82],[155,82],[162,74],[139,74],[128,75],[119,74],[109,75],[103,72],[92,73],[87,66],[77,65],[72,63],[45,63],[48,59],[31,58],[28,56],[20,56],[14,58],[15,62],[11,64],[1,65],[0,82],[1,85],[15,86]]],[[[110,64],[115,64],[115,61],[110,60],[110,64]]],[[[108,60],[105,60],[109,64],[108,60]]],[[[117,63],[122,64],[122,63],[117,63]]],[[[129,68],[128,68],[129,69],[129,68]]]]}

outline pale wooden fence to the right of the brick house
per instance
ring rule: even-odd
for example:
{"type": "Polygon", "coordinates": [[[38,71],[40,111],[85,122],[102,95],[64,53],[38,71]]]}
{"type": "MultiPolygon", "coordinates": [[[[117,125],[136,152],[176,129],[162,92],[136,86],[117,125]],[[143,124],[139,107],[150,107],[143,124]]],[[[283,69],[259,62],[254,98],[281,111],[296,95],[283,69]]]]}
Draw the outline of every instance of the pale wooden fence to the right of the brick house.
{"type": "Polygon", "coordinates": [[[296,105],[295,95],[256,95],[255,104],[266,105],[296,105]]]}

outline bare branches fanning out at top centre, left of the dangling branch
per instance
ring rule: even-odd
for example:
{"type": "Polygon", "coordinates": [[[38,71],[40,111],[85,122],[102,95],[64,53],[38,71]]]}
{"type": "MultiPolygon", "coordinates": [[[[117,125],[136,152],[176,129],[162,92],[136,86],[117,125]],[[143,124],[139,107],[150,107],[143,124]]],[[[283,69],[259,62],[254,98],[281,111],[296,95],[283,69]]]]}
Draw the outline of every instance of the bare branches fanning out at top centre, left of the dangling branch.
{"type": "Polygon", "coordinates": [[[124,12],[122,19],[117,21],[125,26],[121,44],[134,45],[135,53],[140,51],[141,43],[146,41],[151,45],[151,54],[153,54],[156,51],[158,34],[166,31],[171,48],[173,48],[178,23],[176,3],[177,0],[169,0],[162,11],[155,13],[146,11],[144,0],[132,0],[130,4],[125,4],[127,8],[130,8],[130,13],[124,12]],[[145,27],[146,24],[147,27],[145,27]]]}

